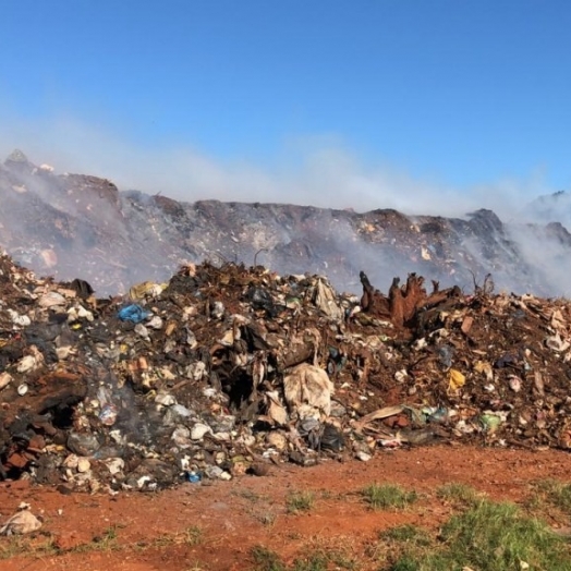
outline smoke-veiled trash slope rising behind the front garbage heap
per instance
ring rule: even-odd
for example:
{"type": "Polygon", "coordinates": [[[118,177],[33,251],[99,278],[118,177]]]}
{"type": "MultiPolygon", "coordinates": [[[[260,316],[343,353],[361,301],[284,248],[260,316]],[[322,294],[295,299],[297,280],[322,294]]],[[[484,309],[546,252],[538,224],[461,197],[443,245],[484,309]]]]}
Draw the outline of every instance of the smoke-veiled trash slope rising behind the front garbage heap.
{"type": "Polygon", "coordinates": [[[535,208],[546,224],[532,226],[505,223],[484,209],[457,219],[388,209],[183,203],[157,192],[120,192],[97,177],[57,174],[14,151],[0,166],[0,244],[38,274],[82,276],[98,295],[168,280],[181,264],[204,259],[327,275],[337,289],[353,292],[362,268],[384,288],[392,276],[415,271],[470,291],[474,279],[491,272],[498,290],[571,291],[563,271],[571,234],[547,223],[554,221],[547,203],[535,208]]]}

